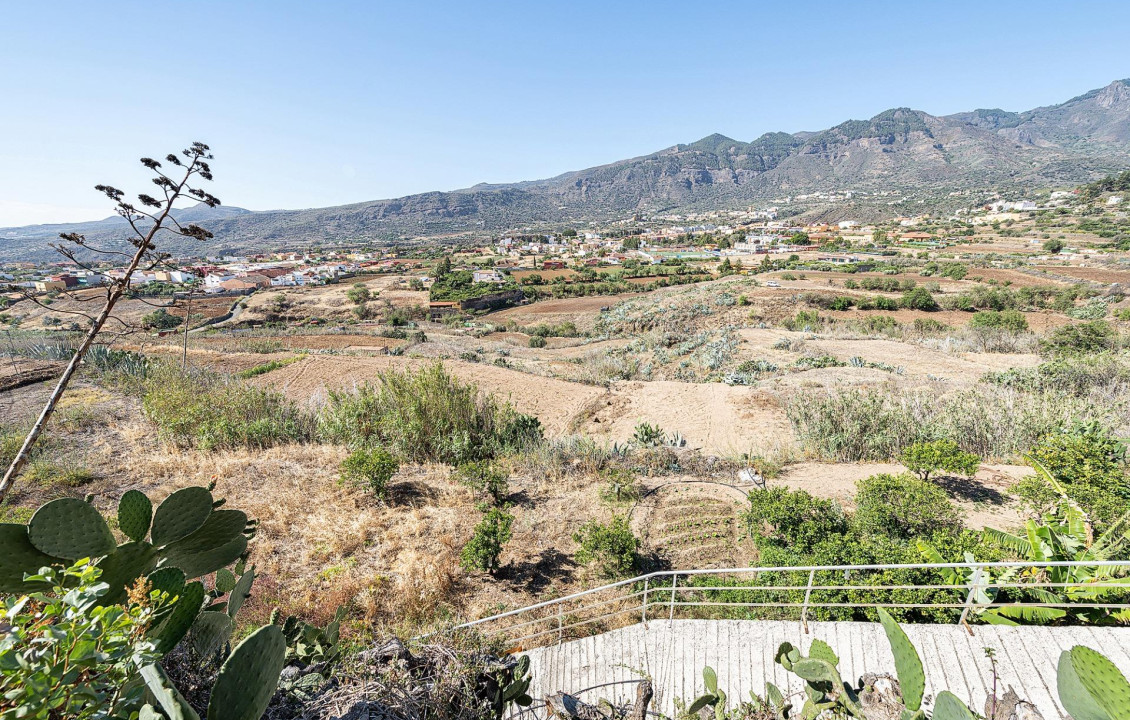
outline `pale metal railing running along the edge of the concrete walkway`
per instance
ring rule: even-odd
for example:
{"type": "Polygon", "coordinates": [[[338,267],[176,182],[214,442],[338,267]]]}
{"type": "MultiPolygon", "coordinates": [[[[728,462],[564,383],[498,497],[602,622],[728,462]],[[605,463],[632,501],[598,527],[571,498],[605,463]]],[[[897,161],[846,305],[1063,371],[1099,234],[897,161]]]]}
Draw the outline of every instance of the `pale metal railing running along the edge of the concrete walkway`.
{"type": "Polygon", "coordinates": [[[808,632],[814,614],[818,615],[815,619],[861,619],[867,610],[880,607],[918,611],[933,622],[948,619],[966,626],[986,609],[1018,606],[1130,615],[1128,573],[1130,559],[671,570],[574,592],[426,636],[473,628],[505,637],[518,650],[676,617],[798,619],[808,632]],[[1051,570],[1071,567],[1090,570],[1088,579],[1054,581],[1049,576],[1051,570]],[[1103,572],[1094,572],[1098,569],[1103,572]],[[967,571],[968,580],[945,582],[941,571],[946,570],[967,571]],[[911,582],[901,575],[913,571],[933,575],[937,581],[911,582]],[[1072,593],[1076,597],[1070,597],[1072,593]],[[1104,595],[1113,598],[1088,601],[1104,595]]]}

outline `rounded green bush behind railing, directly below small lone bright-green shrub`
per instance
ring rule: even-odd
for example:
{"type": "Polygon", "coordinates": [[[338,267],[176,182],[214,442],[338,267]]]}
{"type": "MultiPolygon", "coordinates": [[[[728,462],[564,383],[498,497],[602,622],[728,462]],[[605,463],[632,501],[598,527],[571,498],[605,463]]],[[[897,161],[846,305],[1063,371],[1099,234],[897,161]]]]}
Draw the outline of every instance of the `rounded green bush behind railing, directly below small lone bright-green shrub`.
{"type": "Polygon", "coordinates": [[[872,475],[855,491],[854,527],[863,535],[906,540],[962,529],[957,509],[946,492],[911,475],[872,475]]]}

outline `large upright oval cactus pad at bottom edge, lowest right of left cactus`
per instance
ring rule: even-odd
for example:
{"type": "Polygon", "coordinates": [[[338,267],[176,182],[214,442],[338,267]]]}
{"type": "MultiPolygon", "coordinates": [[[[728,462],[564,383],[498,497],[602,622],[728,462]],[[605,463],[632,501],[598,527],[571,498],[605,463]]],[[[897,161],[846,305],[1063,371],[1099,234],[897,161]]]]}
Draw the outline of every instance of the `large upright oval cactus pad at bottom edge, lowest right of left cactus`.
{"type": "Polygon", "coordinates": [[[263,625],[228,656],[212,686],[208,720],[259,720],[267,710],[286,659],[278,625],[263,625]]]}

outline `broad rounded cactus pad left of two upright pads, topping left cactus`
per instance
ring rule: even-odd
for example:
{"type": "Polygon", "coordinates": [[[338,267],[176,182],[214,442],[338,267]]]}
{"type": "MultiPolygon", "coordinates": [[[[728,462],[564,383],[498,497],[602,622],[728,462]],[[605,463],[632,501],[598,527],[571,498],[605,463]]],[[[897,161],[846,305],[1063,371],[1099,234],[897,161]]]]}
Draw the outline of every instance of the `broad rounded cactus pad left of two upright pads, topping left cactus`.
{"type": "Polygon", "coordinates": [[[108,555],[118,547],[98,510],[77,497],[41,506],[27,523],[27,535],[41,553],[71,561],[108,555]]]}

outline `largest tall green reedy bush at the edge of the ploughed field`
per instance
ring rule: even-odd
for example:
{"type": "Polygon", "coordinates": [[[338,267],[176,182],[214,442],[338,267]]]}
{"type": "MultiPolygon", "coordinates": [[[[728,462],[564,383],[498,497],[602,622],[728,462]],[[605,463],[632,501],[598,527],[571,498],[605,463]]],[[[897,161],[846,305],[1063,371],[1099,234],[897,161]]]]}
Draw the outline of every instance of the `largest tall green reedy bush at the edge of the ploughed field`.
{"type": "Polygon", "coordinates": [[[499,405],[442,363],[388,371],[379,384],[331,392],[318,416],[320,435],[350,448],[382,445],[418,462],[459,465],[541,440],[537,418],[499,405]]]}

